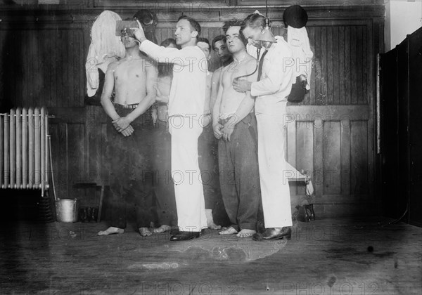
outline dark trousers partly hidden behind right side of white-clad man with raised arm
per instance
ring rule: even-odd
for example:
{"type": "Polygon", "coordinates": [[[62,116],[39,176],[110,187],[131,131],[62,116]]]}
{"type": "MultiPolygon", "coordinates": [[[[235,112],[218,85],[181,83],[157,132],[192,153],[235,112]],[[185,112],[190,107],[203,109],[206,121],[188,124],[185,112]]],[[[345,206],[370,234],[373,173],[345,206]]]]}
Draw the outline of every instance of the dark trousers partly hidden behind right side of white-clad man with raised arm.
{"type": "Polygon", "coordinates": [[[198,138],[198,161],[203,181],[205,209],[212,209],[212,218],[216,224],[227,225],[229,218],[224,209],[219,183],[218,140],[214,136],[212,124],[208,124],[198,138]]]}

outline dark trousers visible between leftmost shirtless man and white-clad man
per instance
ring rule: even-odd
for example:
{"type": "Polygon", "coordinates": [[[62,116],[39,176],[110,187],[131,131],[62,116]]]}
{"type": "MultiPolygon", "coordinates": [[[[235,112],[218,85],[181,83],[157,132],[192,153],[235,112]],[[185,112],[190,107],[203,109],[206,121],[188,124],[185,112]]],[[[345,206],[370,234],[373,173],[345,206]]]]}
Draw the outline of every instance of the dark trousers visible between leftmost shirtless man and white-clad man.
{"type": "Polygon", "coordinates": [[[153,171],[158,221],[161,225],[177,225],[176,199],[172,178],[172,145],[167,122],[157,120],[154,129],[153,171]]]}

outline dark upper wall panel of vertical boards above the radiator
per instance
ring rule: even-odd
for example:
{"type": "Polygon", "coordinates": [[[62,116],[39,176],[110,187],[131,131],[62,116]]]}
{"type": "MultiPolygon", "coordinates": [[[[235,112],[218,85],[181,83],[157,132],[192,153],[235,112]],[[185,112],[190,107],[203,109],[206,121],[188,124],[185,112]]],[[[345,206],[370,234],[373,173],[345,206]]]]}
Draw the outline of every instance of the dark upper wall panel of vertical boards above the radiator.
{"type": "Polygon", "coordinates": [[[14,106],[84,105],[82,29],[0,28],[1,96],[14,106]]]}

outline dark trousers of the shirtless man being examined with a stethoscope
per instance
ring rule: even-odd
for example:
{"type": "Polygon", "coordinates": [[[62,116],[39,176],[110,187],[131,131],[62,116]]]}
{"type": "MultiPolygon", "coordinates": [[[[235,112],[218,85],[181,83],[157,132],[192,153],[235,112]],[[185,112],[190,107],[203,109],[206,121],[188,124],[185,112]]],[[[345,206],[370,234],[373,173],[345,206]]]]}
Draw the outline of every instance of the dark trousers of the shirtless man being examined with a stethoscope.
{"type": "Polygon", "coordinates": [[[248,114],[234,126],[230,141],[218,143],[224,207],[236,230],[256,230],[261,202],[256,134],[255,115],[248,114]]]}

